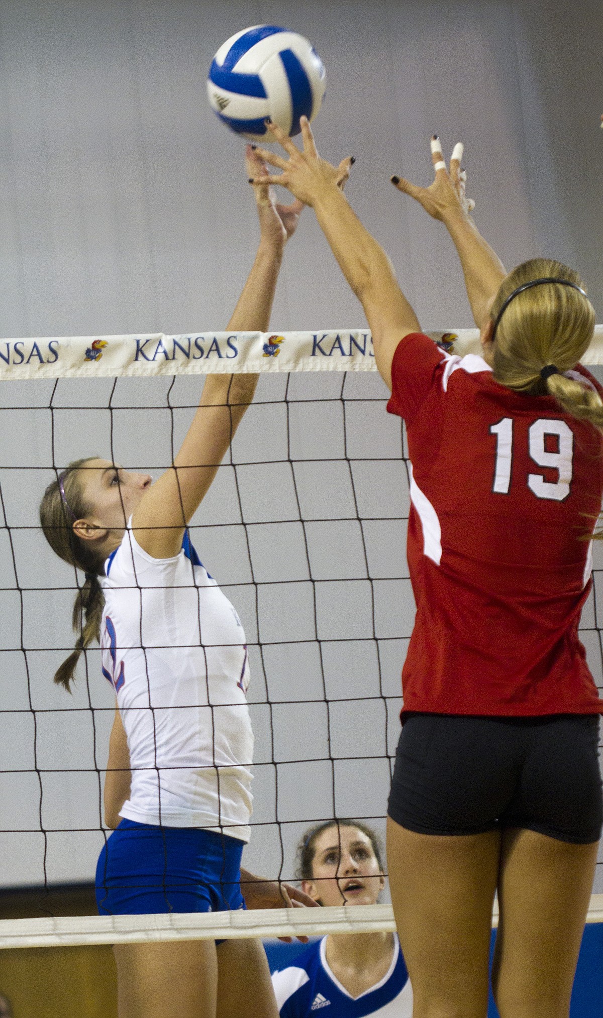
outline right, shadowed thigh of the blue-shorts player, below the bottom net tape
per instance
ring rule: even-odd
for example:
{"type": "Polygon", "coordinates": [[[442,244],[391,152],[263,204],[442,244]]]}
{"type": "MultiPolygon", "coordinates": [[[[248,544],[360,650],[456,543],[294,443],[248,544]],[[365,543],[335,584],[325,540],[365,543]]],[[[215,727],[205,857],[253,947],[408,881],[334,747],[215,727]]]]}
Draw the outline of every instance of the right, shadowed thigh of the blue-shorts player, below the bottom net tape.
{"type": "Polygon", "coordinates": [[[224,941],[217,954],[217,1018],[278,1018],[262,942],[224,941]]]}

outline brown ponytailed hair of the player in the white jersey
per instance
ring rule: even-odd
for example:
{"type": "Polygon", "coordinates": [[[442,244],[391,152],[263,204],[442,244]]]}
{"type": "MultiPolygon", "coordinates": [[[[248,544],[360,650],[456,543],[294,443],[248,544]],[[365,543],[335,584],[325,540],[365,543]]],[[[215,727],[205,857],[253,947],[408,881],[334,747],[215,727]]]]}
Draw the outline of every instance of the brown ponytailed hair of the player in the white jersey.
{"type": "Polygon", "coordinates": [[[81,652],[94,640],[100,640],[105,597],[98,576],[103,575],[103,558],[77,538],[73,522],[88,515],[80,471],[95,457],[69,463],[56,480],[48,486],[40,504],[40,522],[46,540],[56,554],[69,565],[81,569],[85,582],[77,590],[73,605],[72,625],[77,633],[75,646],[57,669],[54,681],[71,691],[73,673],[81,652]]]}

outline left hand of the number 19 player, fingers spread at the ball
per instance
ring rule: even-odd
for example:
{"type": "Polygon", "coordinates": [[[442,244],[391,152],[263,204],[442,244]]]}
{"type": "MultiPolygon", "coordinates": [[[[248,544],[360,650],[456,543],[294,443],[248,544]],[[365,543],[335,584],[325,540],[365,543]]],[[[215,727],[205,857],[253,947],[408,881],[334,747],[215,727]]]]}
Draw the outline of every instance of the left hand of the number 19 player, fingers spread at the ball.
{"type": "Polygon", "coordinates": [[[280,175],[266,173],[257,177],[254,182],[256,189],[259,184],[282,184],[299,202],[314,206],[325,191],[334,187],[343,190],[354,160],[353,157],[348,157],[342,159],[339,166],[332,166],[326,159],[321,159],[314,143],[314,134],[308,117],[302,117],[299,123],[304,142],[302,152],[280,127],[267,121],[266,126],[273,139],[282,146],[288,159],[275,156],[267,149],[256,149],[256,155],[261,160],[270,166],[275,166],[278,170],[282,170],[282,173],[280,175]]]}

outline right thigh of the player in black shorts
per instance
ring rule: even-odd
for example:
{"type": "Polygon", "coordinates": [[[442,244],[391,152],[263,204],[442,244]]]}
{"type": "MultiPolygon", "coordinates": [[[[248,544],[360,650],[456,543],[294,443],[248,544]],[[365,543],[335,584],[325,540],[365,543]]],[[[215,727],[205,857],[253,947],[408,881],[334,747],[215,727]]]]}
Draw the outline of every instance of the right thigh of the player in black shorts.
{"type": "Polygon", "coordinates": [[[566,1018],[598,843],[503,835],[492,985],[501,1018],[566,1018]]]}

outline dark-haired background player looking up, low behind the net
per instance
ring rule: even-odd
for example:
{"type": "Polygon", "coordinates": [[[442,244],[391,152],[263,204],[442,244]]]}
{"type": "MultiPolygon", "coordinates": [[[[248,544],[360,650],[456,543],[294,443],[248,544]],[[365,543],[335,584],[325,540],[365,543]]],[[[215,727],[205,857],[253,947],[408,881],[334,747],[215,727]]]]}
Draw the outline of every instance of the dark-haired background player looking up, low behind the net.
{"type": "MultiPolygon", "coordinates": [[[[375,905],[385,887],[375,831],[358,821],[327,821],[297,848],[297,876],[319,905],[375,905]]],[[[272,975],[280,1018],[358,1015],[412,1018],[413,991],[395,934],[323,937],[272,975]]]]}

